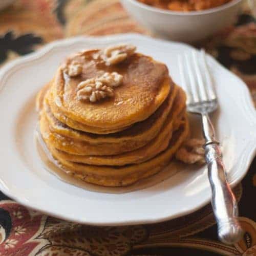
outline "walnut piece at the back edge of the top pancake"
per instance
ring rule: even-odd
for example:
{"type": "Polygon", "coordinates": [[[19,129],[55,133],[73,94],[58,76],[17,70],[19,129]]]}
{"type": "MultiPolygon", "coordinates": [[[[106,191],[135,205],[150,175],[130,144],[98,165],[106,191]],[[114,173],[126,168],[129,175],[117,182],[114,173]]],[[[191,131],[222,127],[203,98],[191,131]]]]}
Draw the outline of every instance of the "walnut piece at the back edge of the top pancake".
{"type": "Polygon", "coordinates": [[[104,49],[101,58],[105,61],[107,66],[115,65],[122,62],[127,57],[134,54],[136,47],[133,45],[117,45],[111,46],[104,49]]]}

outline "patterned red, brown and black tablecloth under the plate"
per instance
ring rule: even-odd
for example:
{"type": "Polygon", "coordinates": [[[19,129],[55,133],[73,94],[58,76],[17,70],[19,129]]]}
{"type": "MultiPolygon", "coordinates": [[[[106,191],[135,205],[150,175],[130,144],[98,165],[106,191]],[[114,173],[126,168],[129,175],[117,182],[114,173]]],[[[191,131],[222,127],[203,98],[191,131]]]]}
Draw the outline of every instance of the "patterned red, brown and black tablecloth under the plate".
{"type": "MultiPolygon", "coordinates": [[[[118,0],[18,0],[0,12],[0,65],[55,39],[124,32],[150,34],[118,0]]],[[[256,103],[256,23],[248,11],[197,46],[244,79],[256,103]]],[[[255,170],[256,159],[234,189],[246,230],[239,243],[218,241],[210,205],[160,224],[91,227],[42,215],[1,193],[0,255],[256,255],[255,170]]]]}

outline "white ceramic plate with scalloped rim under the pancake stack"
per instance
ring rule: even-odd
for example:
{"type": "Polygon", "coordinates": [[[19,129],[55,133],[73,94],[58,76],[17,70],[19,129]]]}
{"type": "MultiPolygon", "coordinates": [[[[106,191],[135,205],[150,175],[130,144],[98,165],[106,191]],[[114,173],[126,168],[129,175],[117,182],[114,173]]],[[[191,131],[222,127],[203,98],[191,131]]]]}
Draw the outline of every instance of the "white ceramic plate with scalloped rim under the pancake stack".
{"type": "MultiPolygon", "coordinates": [[[[119,42],[166,63],[179,84],[179,53],[191,47],[136,34],[77,37],[60,40],[11,62],[0,71],[0,189],[31,208],[61,219],[93,225],[127,225],[159,222],[195,211],[210,201],[205,167],[175,164],[172,177],[151,187],[122,194],[97,193],[60,181],[47,172],[38,156],[34,130],[37,114],[34,96],[54,75],[69,54],[84,48],[119,42]]],[[[244,82],[207,57],[219,96],[215,126],[222,142],[231,185],[246,174],[256,144],[256,115],[244,82]]],[[[191,120],[197,129],[199,120],[191,120]]]]}

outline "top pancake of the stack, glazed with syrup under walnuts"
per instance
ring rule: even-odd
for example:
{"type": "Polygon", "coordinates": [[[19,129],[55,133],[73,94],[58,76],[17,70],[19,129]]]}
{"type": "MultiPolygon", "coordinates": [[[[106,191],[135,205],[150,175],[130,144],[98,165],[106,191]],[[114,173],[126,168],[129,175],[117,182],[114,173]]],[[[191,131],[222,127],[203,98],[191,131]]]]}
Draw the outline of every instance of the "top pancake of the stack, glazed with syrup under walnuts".
{"type": "Polygon", "coordinates": [[[51,93],[56,108],[68,118],[111,132],[146,119],[168,96],[170,79],[164,64],[135,53],[117,65],[106,66],[102,59],[95,58],[97,53],[99,50],[84,51],[66,61],[66,65],[72,61],[82,65],[82,73],[77,77],[63,74],[61,68],[57,71],[51,93]],[[78,84],[104,72],[123,76],[114,97],[97,102],[79,100],[76,96],[78,84]]]}

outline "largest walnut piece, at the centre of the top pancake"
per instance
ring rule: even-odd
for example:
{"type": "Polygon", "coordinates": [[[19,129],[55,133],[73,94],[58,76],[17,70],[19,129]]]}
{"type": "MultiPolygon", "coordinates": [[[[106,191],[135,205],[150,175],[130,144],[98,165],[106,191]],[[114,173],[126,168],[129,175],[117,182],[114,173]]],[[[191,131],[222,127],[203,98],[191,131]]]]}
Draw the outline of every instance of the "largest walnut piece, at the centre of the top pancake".
{"type": "Polygon", "coordinates": [[[122,75],[117,72],[104,73],[98,78],[91,78],[78,84],[77,98],[96,102],[114,96],[114,89],[122,83],[122,75]]]}

